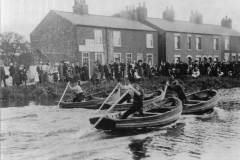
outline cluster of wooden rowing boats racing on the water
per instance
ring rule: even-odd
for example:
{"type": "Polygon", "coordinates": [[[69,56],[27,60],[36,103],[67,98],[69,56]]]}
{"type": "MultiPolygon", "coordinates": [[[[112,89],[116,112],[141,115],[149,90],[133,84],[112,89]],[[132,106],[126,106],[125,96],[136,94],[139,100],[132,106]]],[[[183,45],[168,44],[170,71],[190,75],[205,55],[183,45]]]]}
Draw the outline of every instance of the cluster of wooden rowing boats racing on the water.
{"type": "MultiPolygon", "coordinates": [[[[90,123],[101,130],[131,130],[138,128],[161,127],[176,122],[182,114],[204,114],[214,110],[217,105],[218,93],[207,89],[186,95],[183,103],[177,97],[167,97],[165,90],[158,90],[144,96],[143,116],[132,114],[127,119],[121,115],[128,110],[132,103],[119,103],[106,101],[106,98],[92,96],[83,102],[61,102],[61,108],[85,108],[105,110],[105,114],[92,117],[90,123]]],[[[108,97],[109,98],[109,97],[108,97]]]]}

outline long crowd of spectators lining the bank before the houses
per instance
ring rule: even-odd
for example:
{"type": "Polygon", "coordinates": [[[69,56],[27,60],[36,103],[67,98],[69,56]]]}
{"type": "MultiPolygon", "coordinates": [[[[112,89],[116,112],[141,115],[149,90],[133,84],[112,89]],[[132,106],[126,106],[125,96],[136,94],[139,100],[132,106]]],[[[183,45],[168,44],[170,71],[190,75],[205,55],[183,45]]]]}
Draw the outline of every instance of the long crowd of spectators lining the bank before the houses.
{"type": "Polygon", "coordinates": [[[110,64],[101,65],[94,63],[93,71],[89,76],[89,67],[85,63],[80,66],[79,63],[69,63],[61,61],[50,65],[49,63],[40,62],[37,66],[26,67],[16,63],[10,63],[8,67],[1,63],[0,66],[1,86],[7,86],[6,80],[11,79],[11,85],[27,85],[28,83],[45,83],[45,82],[68,82],[73,77],[80,81],[91,80],[93,84],[99,84],[102,80],[121,81],[128,79],[151,79],[153,76],[169,76],[181,78],[182,76],[200,76],[215,77],[236,77],[240,78],[240,62],[217,62],[217,61],[194,61],[184,63],[161,62],[158,66],[150,66],[139,60],[133,63],[111,62],[110,64]],[[91,77],[91,78],[90,78],[91,77]]]}

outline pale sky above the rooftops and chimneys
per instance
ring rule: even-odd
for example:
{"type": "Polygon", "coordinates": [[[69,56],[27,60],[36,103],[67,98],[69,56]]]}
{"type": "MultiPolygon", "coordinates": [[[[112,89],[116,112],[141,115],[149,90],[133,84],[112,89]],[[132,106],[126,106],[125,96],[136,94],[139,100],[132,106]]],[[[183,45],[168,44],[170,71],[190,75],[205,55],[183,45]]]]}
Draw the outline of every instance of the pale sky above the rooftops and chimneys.
{"type": "MultiPolygon", "coordinates": [[[[0,32],[14,31],[29,40],[31,31],[50,10],[72,12],[74,0],[0,0],[0,32]]],[[[175,19],[189,20],[190,12],[203,15],[203,23],[219,25],[223,17],[233,20],[240,32],[240,0],[86,0],[90,14],[113,15],[126,6],[146,2],[148,16],[162,18],[166,7],[173,7],[175,19]]]]}

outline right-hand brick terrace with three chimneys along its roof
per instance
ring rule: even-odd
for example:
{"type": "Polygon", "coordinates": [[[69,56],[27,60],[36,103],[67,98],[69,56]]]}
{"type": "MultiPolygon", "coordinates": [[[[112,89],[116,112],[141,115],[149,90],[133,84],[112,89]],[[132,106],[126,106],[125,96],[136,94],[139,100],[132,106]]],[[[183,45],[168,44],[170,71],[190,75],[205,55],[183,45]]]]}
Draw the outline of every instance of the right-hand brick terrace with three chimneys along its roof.
{"type": "Polygon", "coordinates": [[[197,12],[191,13],[189,22],[175,20],[174,15],[173,9],[167,8],[163,19],[143,20],[158,31],[160,61],[240,61],[240,33],[232,29],[230,18],[223,18],[220,26],[203,24],[197,12]]]}

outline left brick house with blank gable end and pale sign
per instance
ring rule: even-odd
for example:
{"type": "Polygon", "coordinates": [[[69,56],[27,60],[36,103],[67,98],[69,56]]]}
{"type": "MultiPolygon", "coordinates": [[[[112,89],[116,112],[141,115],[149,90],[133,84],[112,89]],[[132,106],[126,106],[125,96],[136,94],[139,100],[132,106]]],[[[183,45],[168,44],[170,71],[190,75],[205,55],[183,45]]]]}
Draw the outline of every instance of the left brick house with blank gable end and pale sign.
{"type": "Polygon", "coordinates": [[[88,14],[84,0],[73,13],[50,11],[31,33],[32,48],[50,62],[67,60],[89,66],[143,60],[158,63],[158,33],[136,20],[88,14]]]}

